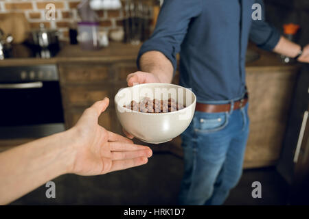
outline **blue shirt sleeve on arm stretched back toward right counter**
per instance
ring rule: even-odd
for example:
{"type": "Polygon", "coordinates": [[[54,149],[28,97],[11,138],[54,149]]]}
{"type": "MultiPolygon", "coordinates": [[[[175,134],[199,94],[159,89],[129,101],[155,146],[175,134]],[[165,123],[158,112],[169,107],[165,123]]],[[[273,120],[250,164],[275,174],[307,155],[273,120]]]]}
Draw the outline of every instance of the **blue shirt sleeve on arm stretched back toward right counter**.
{"type": "Polygon", "coordinates": [[[279,42],[281,34],[273,25],[266,23],[264,2],[255,0],[255,3],[262,6],[262,20],[253,20],[249,38],[261,49],[272,51],[279,42]]]}

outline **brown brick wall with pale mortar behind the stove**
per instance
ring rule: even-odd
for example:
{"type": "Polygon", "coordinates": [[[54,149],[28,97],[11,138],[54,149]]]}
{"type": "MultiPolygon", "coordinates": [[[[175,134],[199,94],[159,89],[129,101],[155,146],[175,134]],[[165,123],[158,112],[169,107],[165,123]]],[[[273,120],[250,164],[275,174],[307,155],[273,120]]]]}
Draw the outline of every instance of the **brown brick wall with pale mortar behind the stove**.
{"type": "MultiPolygon", "coordinates": [[[[71,21],[80,21],[77,12],[78,0],[0,0],[0,19],[8,12],[21,12],[25,14],[30,27],[38,28],[40,23],[46,27],[56,28],[60,31],[60,39],[69,39],[69,24],[71,21]],[[56,6],[56,19],[47,21],[45,19],[45,5],[54,3],[56,6]]],[[[100,17],[100,29],[122,28],[123,10],[97,11],[100,17]]]]}

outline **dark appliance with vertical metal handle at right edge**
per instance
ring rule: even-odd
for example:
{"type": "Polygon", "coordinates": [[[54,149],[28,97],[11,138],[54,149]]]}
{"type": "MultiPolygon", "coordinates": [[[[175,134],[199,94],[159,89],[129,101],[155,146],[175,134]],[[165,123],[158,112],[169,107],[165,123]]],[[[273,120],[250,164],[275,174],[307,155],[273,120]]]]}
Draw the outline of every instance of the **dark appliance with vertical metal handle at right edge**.
{"type": "Polygon", "coordinates": [[[278,172],[290,185],[290,204],[309,204],[309,64],[299,72],[278,172]]]}

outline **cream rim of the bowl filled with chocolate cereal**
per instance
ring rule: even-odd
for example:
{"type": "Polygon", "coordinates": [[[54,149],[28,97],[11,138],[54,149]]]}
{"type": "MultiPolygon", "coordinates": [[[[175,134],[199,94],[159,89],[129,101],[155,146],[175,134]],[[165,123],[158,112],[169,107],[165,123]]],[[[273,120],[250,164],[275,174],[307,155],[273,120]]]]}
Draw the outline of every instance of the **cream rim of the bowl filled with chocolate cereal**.
{"type": "MultiPolygon", "coordinates": [[[[184,88],[185,90],[189,90],[188,88],[185,88],[185,87],[183,87],[183,86],[179,86],[179,85],[177,85],[177,84],[173,84],[173,83],[139,83],[139,84],[136,84],[135,86],[147,86],[147,85],[149,85],[149,84],[152,84],[152,85],[155,85],[155,84],[159,84],[159,85],[168,85],[168,86],[176,86],[176,87],[179,87],[179,88],[184,88]]],[[[122,90],[124,90],[124,89],[130,89],[130,88],[133,88],[133,87],[135,87],[135,86],[132,86],[132,87],[126,87],[126,88],[122,88],[122,90]]],[[[117,94],[119,94],[119,92],[122,92],[122,90],[119,90],[118,92],[117,92],[117,94]]],[[[167,115],[167,114],[176,114],[176,113],[179,113],[179,112],[182,112],[182,111],[185,111],[186,109],[187,109],[187,107],[190,107],[190,106],[192,106],[192,105],[194,105],[195,103],[196,103],[196,95],[194,94],[194,92],[192,92],[192,90],[189,90],[193,95],[194,95],[194,101],[190,104],[190,105],[188,105],[188,106],[186,106],[185,108],[183,108],[183,109],[181,109],[181,110],[176,110],[176,111],[174,111],[174,112],[164,112],[164,113],[156,113],[156,112],[154,112],[154,113],[148,113],[148,112],[137,112],[137,111],[134,111],[134,110],[130,110],[130,109],[128,109],[128,108],[126,108],[126,107],[124,107],[124,106],[122,106],[122,105],[120,105],[120,107],[122,107],[122,108],[124,108],[125,110],[126,110],[126,112],[131,112],[131,113],[135,113],[135,114],[146,114],[146,115],[155,115],[155,116],[159,116],[159,115],[161,115],[161,116],[163,116],[163,115],[167,115]]],[[[116,96],[117,96],[117,94],[115,94],[115,97],[114,97],[114,103],[115,103],[115,108],[116,108],[116,110],[117,110],[117,112],[119,111],[118,109],[117,109],[117,106],[118,106],[118,103],[117,103],[117,101],[116,101],[116,96]]],[[[195,109],[194,109],[195,110],[195,109]]]]}

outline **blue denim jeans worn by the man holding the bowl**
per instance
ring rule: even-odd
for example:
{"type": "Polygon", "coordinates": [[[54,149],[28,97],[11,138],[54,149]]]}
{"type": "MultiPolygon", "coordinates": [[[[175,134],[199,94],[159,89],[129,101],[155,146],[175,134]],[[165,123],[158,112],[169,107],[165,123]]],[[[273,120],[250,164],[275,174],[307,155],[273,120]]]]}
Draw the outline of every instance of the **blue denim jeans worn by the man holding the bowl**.
{"type": "Polygon", "coordinates": [[[222,205],[241,175],[249,135],[248,103],[231,112],[195,112],[181,135],[181,205],[222,205]]]}

